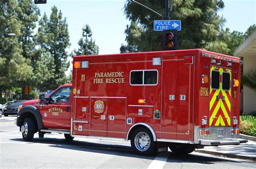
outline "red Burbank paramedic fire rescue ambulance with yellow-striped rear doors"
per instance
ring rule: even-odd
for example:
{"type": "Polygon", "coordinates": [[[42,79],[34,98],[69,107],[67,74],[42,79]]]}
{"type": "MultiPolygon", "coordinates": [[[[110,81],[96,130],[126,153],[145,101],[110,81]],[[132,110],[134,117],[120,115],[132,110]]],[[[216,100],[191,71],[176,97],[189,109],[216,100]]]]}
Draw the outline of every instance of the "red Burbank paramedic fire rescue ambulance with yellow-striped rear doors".
{"type": "Polygon", "coordinates": [[[131,140],[143,155],[246,143],[239,138],[240,64],[199,49],[73,57],[72,85],[23,107],[17,125],[26,141],[36,132],[131,140]]]}

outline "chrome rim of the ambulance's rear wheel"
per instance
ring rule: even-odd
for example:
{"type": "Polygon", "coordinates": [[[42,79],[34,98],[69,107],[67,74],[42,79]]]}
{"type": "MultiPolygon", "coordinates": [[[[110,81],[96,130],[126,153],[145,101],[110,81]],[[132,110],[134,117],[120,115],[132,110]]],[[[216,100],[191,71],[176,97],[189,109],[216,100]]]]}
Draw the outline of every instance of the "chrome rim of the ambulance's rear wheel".
{"type": "Polygon", "coordinates": [[[150,136],[146,132],[139,132],[134,139],[134,144],[139,151],[149,149],[150,143],[150,136]]]}

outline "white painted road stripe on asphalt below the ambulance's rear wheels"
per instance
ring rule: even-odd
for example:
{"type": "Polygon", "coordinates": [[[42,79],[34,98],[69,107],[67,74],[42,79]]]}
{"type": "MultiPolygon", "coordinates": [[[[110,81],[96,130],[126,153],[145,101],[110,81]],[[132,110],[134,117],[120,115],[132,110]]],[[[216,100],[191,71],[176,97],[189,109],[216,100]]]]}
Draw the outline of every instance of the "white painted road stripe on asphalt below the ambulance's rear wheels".
{"type": "Polygon", "coordinates": [[[158,156],[151,162],[149,167],[147,167],[147,169],[163,168],[169,156],[170,153],[168,152],[159,153],[158,156]]]}

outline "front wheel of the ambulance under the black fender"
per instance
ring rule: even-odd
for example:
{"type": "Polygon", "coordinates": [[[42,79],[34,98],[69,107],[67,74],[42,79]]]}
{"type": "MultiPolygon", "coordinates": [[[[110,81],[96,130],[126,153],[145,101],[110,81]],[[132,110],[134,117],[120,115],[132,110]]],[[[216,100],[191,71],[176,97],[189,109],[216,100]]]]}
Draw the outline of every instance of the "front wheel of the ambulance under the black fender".
{"type": "Polygon", "coordinates": [[[35,123],[32,118],[25,118],[21,126],[22,137],[26,142],[31,142],[35,133],[35,123]]]}

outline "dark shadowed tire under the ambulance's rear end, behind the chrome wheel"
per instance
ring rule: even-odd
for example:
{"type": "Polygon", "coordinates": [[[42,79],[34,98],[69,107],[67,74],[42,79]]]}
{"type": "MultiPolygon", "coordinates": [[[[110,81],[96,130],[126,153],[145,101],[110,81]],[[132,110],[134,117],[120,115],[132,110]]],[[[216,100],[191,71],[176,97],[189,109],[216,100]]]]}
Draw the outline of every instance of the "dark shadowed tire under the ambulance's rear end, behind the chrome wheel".
{"type": "Polygon", "coordinates": [[[174,154],[185,155],[192,153],[196,146],[193,144],[171,144],[169,148],[174,154]]]}

